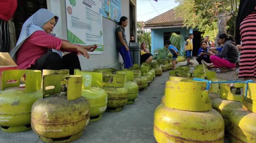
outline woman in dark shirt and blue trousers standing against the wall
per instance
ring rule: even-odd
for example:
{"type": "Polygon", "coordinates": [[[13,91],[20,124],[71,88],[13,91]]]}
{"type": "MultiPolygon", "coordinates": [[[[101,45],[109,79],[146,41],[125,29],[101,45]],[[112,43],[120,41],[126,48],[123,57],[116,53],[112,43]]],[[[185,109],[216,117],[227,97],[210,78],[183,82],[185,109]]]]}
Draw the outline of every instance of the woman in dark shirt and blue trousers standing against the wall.
{"type": "Polygon", "coordinates": [[[116,48],[122,56],[125,68],[132,67],[131,55],[128,48],[128,42],[125,35],[125,27],[128,25],[128,18],[121,17],[116,28],[116,48]]]}

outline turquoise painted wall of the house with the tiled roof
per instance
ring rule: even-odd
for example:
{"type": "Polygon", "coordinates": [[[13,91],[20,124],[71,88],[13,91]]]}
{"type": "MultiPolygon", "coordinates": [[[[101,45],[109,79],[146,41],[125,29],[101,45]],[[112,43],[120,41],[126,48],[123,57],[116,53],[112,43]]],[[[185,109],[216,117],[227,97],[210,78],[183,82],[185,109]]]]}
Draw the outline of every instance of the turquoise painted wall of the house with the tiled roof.
{"type": "MultiPolygon", "coordinates": [[[[187,28],[161,28],[161,29],[151,29],[151,53],[154,54],[154,50],[158,48],[163,48],[163,33],[164,32],[177,32],[180,31],[183,37],[187,37],[189,35],[189,31],[193,31],[193,29],[187,28]]],[[[184,41],[185,42],[185,41],[184,41]]]]}

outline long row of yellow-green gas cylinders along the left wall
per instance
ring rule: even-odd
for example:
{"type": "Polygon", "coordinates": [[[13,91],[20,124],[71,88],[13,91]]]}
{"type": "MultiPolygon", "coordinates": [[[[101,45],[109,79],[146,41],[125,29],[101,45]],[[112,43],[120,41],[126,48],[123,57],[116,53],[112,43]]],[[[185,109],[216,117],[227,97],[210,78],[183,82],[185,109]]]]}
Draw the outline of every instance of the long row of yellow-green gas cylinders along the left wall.
{"type": "Polygon", "coordinates": [[[154,80],[151,64],[131,69],[5,70],[1,77],[0,125],[4,132],[32,129],[46,143],[78,139],[105,111],[133,104],[154,80]]]}

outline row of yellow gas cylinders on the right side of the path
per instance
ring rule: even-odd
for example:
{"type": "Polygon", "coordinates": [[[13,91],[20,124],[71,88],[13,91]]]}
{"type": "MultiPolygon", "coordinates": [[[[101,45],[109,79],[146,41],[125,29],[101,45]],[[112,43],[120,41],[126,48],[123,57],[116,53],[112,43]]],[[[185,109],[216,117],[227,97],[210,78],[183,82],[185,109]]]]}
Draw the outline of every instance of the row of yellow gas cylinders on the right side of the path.
{"type": "MultiPolygon", "coordinates": [[[[209,71],[205,73],[201,65],[195,67],[193,75],[224,81],[209,71]]],[[[206,85],[187,77],[169,77],[154,113],[157,142],[224,143],[225,135],[230,143],[256,143],[256,84],[217,83],[211,84],[209,91],[206,85]]]]}

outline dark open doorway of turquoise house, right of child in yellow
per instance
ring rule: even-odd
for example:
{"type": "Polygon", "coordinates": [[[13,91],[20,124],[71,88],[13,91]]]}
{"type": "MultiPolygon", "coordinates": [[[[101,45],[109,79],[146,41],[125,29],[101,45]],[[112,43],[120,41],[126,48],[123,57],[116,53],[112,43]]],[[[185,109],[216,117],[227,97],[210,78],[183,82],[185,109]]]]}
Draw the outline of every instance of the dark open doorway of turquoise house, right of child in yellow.
{"type": "Polygon", "coordinates": [[[193,31],[194,39],[193,39],[193,52],[192,56],[198,56],[198,50],[201,48],[201,42],[202,42],[202,34],[203,32],[200,31],[193,31]]]}

